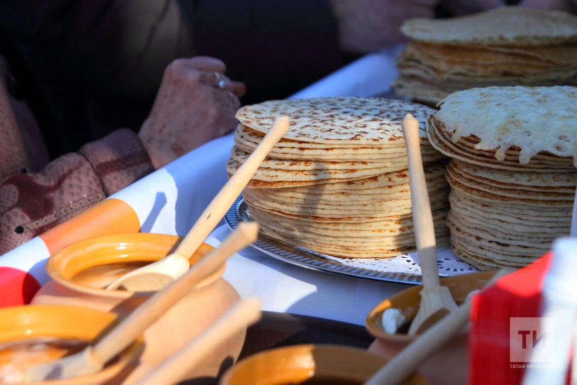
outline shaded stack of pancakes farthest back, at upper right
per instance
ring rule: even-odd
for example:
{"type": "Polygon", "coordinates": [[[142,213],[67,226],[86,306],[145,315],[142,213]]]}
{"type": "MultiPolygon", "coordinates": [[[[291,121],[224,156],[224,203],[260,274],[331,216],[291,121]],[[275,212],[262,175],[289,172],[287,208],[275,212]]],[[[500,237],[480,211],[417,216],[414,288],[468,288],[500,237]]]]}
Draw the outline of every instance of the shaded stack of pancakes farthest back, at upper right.
{"type": "Polygon", "coordinates": [[[505,7],[451,19],[413,19],[398,57],[398,95],[434,105],[492,85],[577,85],[577,17],[505,7]]]}

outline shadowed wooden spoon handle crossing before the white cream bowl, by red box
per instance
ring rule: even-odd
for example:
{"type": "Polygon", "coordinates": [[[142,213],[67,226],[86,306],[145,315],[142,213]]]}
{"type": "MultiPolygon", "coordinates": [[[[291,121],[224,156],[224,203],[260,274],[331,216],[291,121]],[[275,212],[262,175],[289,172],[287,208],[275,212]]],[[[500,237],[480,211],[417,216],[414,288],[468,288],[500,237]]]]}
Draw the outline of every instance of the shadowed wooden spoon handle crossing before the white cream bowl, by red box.
{"type": "MultiPolygon", "coordinates": [[[[493,285],[494,282],[511,271],[512,269],[507,268],[497,271],[485,285],[485,288],[493,285]]],[[[467,324],[470,309],[471,301],[466,300],[447,317],[431,326],[395,357],[391,358],[391,361],[374,373],[365,382],[365,385],[396,385],[402,383],[404,379],[417,370],[426,358],[447,343],[460,328],[467,324]]]]}

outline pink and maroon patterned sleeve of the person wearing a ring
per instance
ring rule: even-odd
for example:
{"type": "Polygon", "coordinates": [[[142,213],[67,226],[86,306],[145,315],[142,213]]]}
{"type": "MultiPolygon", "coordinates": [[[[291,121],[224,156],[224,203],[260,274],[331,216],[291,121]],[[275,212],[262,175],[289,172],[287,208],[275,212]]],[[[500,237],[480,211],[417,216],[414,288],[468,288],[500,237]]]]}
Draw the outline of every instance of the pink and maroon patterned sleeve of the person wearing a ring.
{"type": "Polygon", "coordinates": [[[153,171],[137,134],[117,130],[78,153],[0,183],[0,255],[153,171]]]}

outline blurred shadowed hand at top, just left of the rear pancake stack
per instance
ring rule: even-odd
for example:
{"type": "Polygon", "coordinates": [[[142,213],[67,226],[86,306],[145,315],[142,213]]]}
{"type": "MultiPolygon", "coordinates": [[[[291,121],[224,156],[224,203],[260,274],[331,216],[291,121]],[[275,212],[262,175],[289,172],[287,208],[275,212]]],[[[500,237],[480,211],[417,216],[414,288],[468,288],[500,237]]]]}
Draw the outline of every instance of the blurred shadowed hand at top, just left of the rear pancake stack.
{"type": "Polygon", "coordinates": [[[332,0],[345,51],[367,53],[392,47],[405,38],[403,21],[434,16],[439,0],[332,0]]]}

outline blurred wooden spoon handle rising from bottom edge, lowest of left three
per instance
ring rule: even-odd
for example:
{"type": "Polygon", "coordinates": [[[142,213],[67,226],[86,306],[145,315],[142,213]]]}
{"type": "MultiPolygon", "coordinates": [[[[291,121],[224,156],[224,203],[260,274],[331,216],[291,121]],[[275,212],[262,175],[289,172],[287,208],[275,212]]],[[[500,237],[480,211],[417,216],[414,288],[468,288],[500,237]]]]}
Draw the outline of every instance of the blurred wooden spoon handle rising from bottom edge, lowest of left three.
{"type": "Polygon", "coordinates": [[[185,379],[187,373],[194,367],[201,364],[203,358],[212,353],[219,343],[257,322],[260,317],[260,300],[249,298],[237,302],[216,323],[147,373],[138,383],[140,385],[178,383],[185,379]]]}

